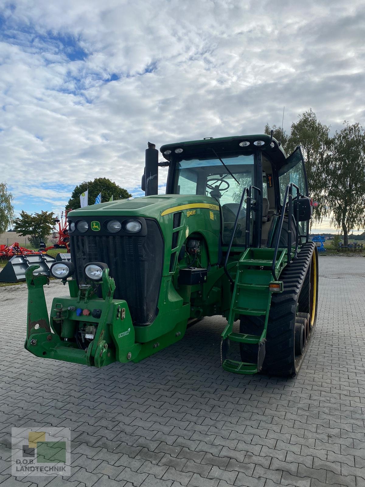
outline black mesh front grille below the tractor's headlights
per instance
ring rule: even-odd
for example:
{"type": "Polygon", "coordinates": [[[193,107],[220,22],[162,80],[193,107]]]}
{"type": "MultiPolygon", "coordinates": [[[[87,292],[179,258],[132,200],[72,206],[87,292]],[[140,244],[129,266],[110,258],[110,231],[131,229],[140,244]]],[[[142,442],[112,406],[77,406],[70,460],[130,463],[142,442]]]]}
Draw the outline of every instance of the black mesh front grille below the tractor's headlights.
{"type": "MultiPolygon", "coordinates": [[[[77,283],[85,283],[84,267],[88,262],[105,262],[114,278],[114,299],[123,299],[133,324],[145,325],[157,314],[161,285],[164,243],[160,227],[146,219],[147,235],[79,235],[71,237],[72,262],[77,283]]],[[[101,297],[101,286],[98,286],[101,297]]]]}

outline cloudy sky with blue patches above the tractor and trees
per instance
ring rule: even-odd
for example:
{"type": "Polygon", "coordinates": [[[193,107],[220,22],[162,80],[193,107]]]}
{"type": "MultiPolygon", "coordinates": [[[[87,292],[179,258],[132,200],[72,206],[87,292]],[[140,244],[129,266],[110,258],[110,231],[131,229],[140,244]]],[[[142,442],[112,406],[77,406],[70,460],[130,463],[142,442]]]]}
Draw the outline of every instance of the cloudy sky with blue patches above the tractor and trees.
{"type": "Polygon", "coordinates": [[[262,133],[283,106],[287,131],[309,108],[364,126],[364,34],[363,0],[0,0],[0,180],[17,214],[60,214],[95,177],[141,196],[147,141],[262,133]]]}

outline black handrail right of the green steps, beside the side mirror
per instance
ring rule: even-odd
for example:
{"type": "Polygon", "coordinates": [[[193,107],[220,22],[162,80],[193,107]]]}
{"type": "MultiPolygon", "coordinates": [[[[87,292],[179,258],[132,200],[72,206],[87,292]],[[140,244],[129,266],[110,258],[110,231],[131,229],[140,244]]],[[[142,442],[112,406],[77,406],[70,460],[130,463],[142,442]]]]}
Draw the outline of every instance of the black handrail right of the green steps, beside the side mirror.
{"type": "Polygon", "coordinates": [[[290,264],[292,262],[292,193],[293,193],[293,187],[295,187],[295,189],[296,189],[296,200],[297,200],[296,222],[295,222],[294,259],[296,259],[296,256],[298,253],[298,244],[299,244],[299,221],[298,220],[299,220],[299,198],[300,198],[300,194],[299,194],[299,188],[294,183],[290,183],[286,187],[284,200],[283,200],[283,204],[281,207],[281,215],[280,215],[280,220],[279,220],[279,225],[278,225],[278,230],[277,230],[277,235],[276,235],[273,264],[271,267],[271,272],[273,274],[275,281],[277,281],[276,272],[275,272],[275,263],[276,263],[277,251],[279,249],[281,230],[283,228],[283,222],[284,222],[284,216],[285,216],[285,206],[287,204],[288,196],[289,196],[289,205],[288,205],[288,243],[287,243],[287,254],[288,254],[287,259],[288,259],[288,261],[287,262],[288,262],[288,264],[290,264]]]}

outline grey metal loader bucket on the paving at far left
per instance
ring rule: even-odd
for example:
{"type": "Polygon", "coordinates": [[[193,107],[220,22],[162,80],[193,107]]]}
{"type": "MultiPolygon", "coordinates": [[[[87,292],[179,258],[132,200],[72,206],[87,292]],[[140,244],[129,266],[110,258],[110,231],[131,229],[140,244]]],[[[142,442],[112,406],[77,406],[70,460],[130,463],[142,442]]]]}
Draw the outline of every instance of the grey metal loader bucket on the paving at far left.
{"type": "Polygon", "coordinates": [[[31,265],[39,265],[35,274],[50,276],[50,267],[56,262],[55,257],[48,254],[15,255],[0,272],[0,282],[25,281],[25,271],[31,265]]]}

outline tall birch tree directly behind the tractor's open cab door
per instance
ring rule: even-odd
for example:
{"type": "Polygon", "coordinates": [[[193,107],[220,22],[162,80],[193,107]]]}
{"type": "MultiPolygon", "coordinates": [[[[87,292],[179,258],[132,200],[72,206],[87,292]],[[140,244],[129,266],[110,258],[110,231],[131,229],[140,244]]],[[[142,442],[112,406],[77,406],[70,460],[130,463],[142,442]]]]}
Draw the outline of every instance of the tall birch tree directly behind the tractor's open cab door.
{"type": "Polygon", "coordinates": [[[313,213],[313,217],[319,221],[326,213],[323,195],[327,187],[327,181],[324,177],[323,165],[329,146],[329,127],[318,121],[316,114],[310,108],[307,112],[299,115],[297,122],[292,123],[287,145],[290,148],[290,152],[297,146],[302,149],[307,171],[309,194],[319,203],[313,213]]]}

